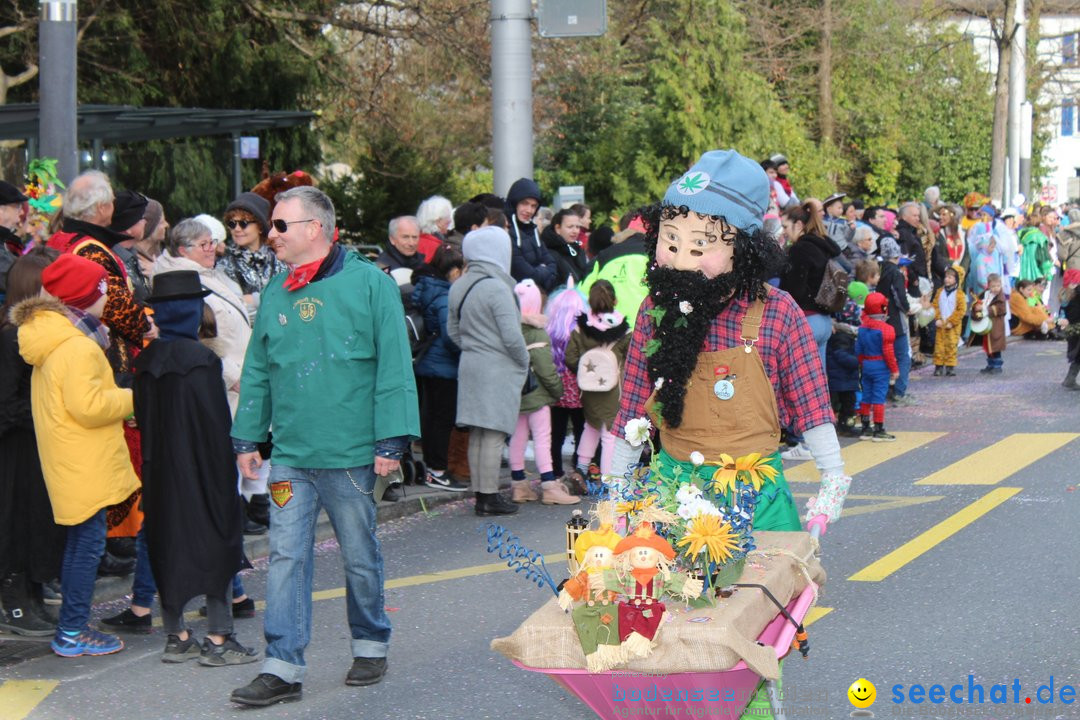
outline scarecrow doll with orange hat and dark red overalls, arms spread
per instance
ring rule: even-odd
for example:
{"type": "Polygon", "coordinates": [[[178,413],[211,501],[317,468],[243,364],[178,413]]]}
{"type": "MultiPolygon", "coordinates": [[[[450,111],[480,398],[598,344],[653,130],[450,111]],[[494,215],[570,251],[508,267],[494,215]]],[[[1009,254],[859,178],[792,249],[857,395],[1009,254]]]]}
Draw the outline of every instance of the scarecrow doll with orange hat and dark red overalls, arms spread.
{"type": "Polygon", "coordinates": [[[652,529],[651,522],[642,522],[637,529],[616,546],[615,568],[602,576],[591,579],[593,586],[602,585],[625,596],[619,603],[619,635],[627,657],[647,657],[652,652],[652,641],[660,630],[664,595],[692,599],[701,595],[703,583],[680,572],[673,572],[671,561],[675,551],[671,543],[652,529]]]}

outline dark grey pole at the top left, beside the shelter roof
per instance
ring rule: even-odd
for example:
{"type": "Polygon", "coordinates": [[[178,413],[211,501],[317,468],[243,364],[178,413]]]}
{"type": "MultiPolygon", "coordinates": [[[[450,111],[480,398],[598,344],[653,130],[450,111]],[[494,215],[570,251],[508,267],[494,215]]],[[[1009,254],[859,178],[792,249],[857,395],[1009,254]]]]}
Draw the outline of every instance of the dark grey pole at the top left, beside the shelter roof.
{"type": "Polygon", "coordinates": [[[64,184],[79,174],[76,126],[76,0],[42,0],[38,58],[41,154],[56,158],[64,184]]]}

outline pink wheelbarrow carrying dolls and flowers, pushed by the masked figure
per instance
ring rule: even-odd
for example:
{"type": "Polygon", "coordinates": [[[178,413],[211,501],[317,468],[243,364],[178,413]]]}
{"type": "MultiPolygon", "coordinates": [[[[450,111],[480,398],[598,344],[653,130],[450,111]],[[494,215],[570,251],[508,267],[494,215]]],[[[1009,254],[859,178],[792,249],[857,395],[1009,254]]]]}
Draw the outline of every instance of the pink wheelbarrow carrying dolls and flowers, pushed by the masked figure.
{"type": "MultiPolygon", "coordinates": [[[[813,518],[809,530],[815,538],[824,533],[824,517],[813,518]]],[[[805,634],[801,637],[797,634],[813,604],[816,590],[816,585],[807,585],[787,604],[786,612],[778,613],[758,635],[759,643],[775,650],[777,660],[783,660],[793,647],[805,643],[805,634]]],[[[773,720],[785,720],[786,717],[781,705],[780,682],[762,680],[743,662],[717,673],[658,676],[642,676],[625,670],[590,673],[584,669],[536,668],[512,662],[522,669],[543,673],[603,720],[633,717],[738,720],[751,701],[760,697],[760,691],[768,698],[773,720]]],[[[753,717],[760,720],[766,716],[755,711],[753,717]]]]}

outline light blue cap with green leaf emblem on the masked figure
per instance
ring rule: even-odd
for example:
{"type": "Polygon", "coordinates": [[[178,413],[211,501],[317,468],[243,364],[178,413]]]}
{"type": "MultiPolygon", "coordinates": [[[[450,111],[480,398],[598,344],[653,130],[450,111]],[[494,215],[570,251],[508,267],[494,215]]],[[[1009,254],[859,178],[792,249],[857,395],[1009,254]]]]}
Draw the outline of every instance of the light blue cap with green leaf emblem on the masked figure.
{"type": "Polygon", "coordinates": [[[671,184],[664,204],[723,217],[753,233],[769,207],[769,178],[760,164],[734,150],[710,150],[671,184]]]}

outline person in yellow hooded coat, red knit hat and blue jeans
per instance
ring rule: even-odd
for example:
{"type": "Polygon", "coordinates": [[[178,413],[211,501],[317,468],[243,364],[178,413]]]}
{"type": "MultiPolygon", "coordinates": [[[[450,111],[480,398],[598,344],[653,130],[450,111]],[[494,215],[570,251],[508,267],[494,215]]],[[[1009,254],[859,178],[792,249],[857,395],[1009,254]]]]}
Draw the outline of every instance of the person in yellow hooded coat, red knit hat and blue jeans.
{"type": "Polygon", "coordinates": [[[124,644],[89,627],[97,565],[105,552],[105,508],[138,488],[124,443],[132,392],[117,388],[105,357],[105,269],[62,255],[42,271],[51,297],[11,311],[18,351],[33,367],[30,406],[41,470],[57,525],[68,527],[60,587],[64,603],[52,649],[64,657],[107,655],[124,644]]]}

